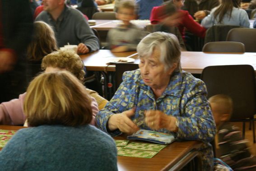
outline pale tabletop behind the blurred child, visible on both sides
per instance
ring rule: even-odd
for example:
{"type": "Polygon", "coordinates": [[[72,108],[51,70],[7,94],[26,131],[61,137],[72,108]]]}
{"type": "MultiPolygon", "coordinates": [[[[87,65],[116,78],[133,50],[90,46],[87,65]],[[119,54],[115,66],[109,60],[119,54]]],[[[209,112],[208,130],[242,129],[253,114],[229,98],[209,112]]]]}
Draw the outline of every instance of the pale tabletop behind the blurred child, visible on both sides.
{"type": "MultiPolygon", "coordinates": [[[[120,20],[95,20],[96,25],[90,26],[96,30],[105,30],[108,31],[111,28],[116,28],[118,24],[121,23],[120,20]]],[[[149,20],[132,20],[131,23],[137,25],[139,28],[144,28],[146,25],[150,25],[149,20]]]]}

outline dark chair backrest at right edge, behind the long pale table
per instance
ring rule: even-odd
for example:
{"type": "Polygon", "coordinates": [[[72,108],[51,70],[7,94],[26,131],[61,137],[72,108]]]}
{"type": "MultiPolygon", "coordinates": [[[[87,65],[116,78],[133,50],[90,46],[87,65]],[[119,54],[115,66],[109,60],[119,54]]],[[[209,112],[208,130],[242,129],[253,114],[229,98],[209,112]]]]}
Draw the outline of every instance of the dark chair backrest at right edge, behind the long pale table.
{"type": "Polygon", "coordinates": [[[228,32],[227,41],[241,42],[246,52],[256,52],[256,29],[233,28],[228,32]]]}

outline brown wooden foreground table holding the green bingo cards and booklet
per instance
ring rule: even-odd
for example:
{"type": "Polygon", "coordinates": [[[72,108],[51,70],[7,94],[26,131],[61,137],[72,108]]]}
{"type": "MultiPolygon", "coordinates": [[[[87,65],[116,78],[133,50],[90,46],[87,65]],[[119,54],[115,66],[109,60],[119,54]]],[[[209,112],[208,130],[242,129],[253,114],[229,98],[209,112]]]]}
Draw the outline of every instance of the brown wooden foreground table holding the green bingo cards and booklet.
{"type": "MultiPolygon", "coordinates": [[[[19,130],[22,128],[26,127],[0,125],[0,129],[5,130],[19,130]]],[[[125,138],[118,136],[114,139],[125,138]]],[[[200,148],[201,144],[200,141],[173,142],[152,158],[117,156],[118,171],[135,171],[138,169],[140,171],[175,171],[180,170],[194,159],[198,160],[195,164],[199,164],[201,159],[196,149],[200,148]]],[[[195,168],[198,167],[200,167],[200,164],[195,166],[195,168]]]]}

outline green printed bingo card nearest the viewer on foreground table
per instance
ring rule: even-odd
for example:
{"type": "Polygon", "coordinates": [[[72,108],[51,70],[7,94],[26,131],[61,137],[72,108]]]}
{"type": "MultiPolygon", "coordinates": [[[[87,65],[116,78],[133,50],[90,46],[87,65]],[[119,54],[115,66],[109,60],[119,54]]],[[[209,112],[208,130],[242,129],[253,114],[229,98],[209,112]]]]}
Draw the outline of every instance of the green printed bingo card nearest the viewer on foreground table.
{"type": "Polygon", "coordinates": [[[142,157],[142,158],[152,158],[158,152],[153,151],[144,151],[144,150],[132,150],[122,148],[117,152],[118,156],[127,156],[127,157],[142,157]]]}

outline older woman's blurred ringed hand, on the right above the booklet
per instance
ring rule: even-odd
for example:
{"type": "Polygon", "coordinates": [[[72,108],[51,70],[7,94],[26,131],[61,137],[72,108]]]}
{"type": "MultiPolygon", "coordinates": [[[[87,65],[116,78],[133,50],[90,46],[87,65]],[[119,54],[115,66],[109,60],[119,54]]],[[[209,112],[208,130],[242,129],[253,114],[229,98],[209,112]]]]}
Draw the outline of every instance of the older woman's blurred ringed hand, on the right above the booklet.
{"type": "Polygon", "coordinates": [[[173,116],[168,116],[162,111],[145,111],[145,123],[153,130],[168,129],[173,132],[178,131],[176,126],[177,119],[173,116]]]}

